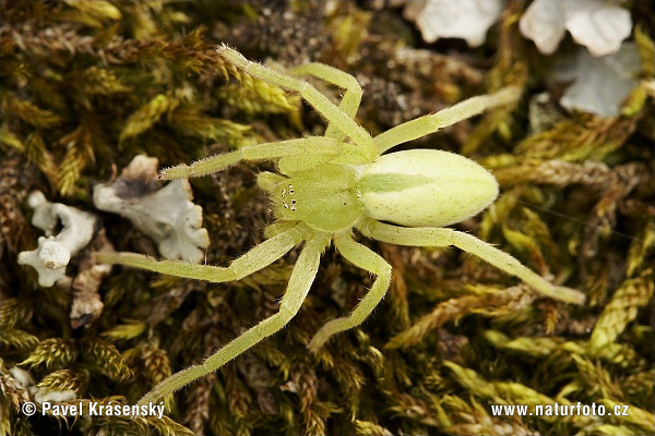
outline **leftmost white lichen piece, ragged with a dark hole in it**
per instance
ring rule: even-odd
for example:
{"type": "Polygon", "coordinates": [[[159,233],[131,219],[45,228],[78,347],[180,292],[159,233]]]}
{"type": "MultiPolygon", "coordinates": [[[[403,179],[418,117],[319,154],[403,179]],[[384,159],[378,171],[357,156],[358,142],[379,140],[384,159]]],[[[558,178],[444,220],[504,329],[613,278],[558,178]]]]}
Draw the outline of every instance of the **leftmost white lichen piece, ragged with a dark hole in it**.
{"type": "Polygon", "coordinates": [[[38,239],[36,250],[19,254],[19,264],[32,266],[38,272],[38,284],[51,287],[66,277],[71,257],[91,242],[97,217],[61,203],[50,203],[40,191],[29,194],[27,205],[34,209],[32,223],[46,235],[38,239]],[[55,235],[59,225],[61,231],[55,235]]]}

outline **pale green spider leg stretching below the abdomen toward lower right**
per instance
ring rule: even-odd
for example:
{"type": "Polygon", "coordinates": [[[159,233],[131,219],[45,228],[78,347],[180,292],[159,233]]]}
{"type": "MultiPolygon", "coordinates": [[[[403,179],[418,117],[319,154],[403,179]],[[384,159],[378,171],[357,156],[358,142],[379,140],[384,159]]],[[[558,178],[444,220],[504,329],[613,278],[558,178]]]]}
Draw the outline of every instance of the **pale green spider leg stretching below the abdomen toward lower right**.
{"type": "Polygon", "coordinates": [[[507,274],[519,277],[545,296],[572,304],[583,304],[585,300],[582,292],[549,283],[541,276],[523,266],[516,258],[472,234],[446,228],[403,228],[373,219],[368,219],[359,229],[368,238],[396,245],[454,245],[467,253],[475,254],[507,274]]]}

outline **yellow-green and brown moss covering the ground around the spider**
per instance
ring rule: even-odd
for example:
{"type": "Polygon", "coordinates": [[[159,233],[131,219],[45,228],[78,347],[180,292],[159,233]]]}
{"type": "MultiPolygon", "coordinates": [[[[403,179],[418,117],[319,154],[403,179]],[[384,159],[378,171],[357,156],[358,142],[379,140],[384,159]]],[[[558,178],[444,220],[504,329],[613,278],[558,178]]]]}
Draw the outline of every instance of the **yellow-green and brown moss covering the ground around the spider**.
{"type": "MultiPolygon", "coordinates": [[[[2,2],[0,435],[653,434],[653,98],[639,86],[608,119],[552,102],[528,111],[549,89],[548,61],[517,32],[523,8],[508,3],[486,45],[468,49],[425,46],[398,10],[372,4],[2,2]],[[588,304],[535,299],[456,250],[369,241],[394,267],[391,290],[318,355],[306,350],[311,336],[371,283],[334,251],[284,331],[168,399],[164,420],[23,415],[33,395],[9,373],[15,365],[46,390],[131,403],[276,311],[294,253],[225,284],[115,268],[97,291],[102,314],[78,328],[74,294],[39,288],[16,264],[40,234],[25,205],[34,189],[99,214],[117,250],[156,256],[127,220],[94,209],[94,183],[138,154],[170,166],[324,129],[297,96],[225,64],[218,43],[283,68],[321,61],[354,74],[365,89],[357,120],[373,134],[522,86],[515,107],[407,147],[453,150],[492,169],[501,196],[455,227],[585,291],[588,304]],[[628,404],[629,416],[493,416],[489,407],[556,401],[628,404]]],[[[652,81],[654,12],[645,1],[630,8],[642,78],[652,81]]],[[[262,240],[272,217],[254,180],[272,168],[192,181],[212,239],[207,263],[225,265],[262,240]]]]}

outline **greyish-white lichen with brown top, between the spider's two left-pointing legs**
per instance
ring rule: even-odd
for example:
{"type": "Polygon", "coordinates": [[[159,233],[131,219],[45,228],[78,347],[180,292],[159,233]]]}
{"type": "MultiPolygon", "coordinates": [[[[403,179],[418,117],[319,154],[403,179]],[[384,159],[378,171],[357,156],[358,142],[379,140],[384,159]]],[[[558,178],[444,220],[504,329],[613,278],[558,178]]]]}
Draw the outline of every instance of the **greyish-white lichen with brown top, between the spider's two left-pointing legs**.
{"type": "Polygon", "coordinates": [[[114,183],[95,186],[93,203],[100,210],[128,218],[157,243],[164,257],[198,264],[210,245],[202,228],[202,208],[191,202],[188,180],[162,187],[157,166],[156,158],[136,156],[114,183]]]}

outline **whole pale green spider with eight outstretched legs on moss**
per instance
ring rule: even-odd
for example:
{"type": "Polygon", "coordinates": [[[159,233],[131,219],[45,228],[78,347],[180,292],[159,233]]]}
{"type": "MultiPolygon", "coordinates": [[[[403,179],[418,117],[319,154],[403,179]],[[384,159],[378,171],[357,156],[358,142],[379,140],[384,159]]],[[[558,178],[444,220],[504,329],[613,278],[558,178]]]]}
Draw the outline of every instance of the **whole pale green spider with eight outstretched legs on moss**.
{"type": "Polygon", "coordinates": [[[216,371],[264,338],[285,327],[298,313],[319,270],[321,254],[334,243],[355,266],[376,276],[372,287],[353,312],[326,323],[309,342],[315,352],[330,337],[361,324],[380,303],[391,282],[391,265],[353,240],[353,229],[378,241],[412,246],[454,245],[519,277],[539,293],[582,304],[576,290],[557,287],[509,254],[474,235],[443,228],[478,214],[498,195],[493,175],[463,156],[434,149],[384,154],[390,148],[519,98],[515,88],[478,96],[397,125],[372,137],[355,121],[361,87],[352,75],[322,63],[309,63],[283,73],[247,60],[222,45],[218,55],[247,74],[299,93],[325,120],[323,136],[242,147],[190,166],[162,170],[160,179],[202,177],[240,161],[278,159],[279,174],[262,172],[258,184],[270,196],[276,222],[265,241],[228,267],[155,261],[134,253],[103,253],[98,261],[171,276],[226,282],[258,271],[305,243],[294,266],[279,311],[217,350],[202,364],[190,366],[157,384],[139,404],[172,393],[216,371]],[[299,76],[309,75],[345,90],[338,106],[299,76]]]}

